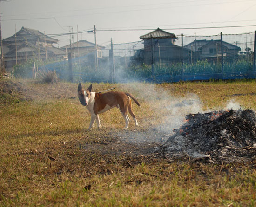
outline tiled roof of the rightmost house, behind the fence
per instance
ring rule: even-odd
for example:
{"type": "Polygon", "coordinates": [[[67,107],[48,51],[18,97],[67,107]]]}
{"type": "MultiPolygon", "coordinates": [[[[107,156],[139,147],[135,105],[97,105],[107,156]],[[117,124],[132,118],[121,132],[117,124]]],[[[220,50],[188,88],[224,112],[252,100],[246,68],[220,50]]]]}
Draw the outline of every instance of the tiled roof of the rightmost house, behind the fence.
{"type": "MultiPolygon", "coordinates": [[[[212,45],[212,44],[221,44],[221,40],[217,39],[217,40],[194,40],[193,42],[189,43],[188,45],[185,45],[184,48],[187,48],[189,50],[192,50],[193,52],[198,52],[200,51],[203,47],[212,45]]],[[[232,45],[228,42],[222,41],[223,47],[226,47],[229,50],[238,50],[240,51],[241,48],[236,46],[236,45],[232,45]]]]}

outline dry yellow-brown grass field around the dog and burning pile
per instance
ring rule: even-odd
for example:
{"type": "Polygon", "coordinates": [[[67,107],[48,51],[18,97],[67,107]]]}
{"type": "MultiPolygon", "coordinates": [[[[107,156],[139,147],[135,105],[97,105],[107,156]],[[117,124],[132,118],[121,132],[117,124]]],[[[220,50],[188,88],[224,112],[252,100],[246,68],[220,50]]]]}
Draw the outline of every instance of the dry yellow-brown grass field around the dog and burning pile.
{"type": "Polygon", "coordinates": [[[100,115],[101,130],[88,131],[77,86],[0,80],[0,206],[256,206],[256,161],[154,156],[186,114],[256,110],[255,80],[93,84],[93,91],[116,86],[141,103],[133,103],[139,127],[131,120],[126,130],[112,109],[100,115]]]}

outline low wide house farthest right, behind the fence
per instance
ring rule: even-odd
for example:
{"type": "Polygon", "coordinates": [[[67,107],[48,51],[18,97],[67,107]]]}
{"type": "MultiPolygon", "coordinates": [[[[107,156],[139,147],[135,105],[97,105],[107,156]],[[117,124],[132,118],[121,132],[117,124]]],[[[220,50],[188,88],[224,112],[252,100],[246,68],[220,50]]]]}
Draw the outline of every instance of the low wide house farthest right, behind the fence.
{"type": "MultiPolygon", "coordinates": [[[[241,51],[241,48],[232,45],[228,42],[222,41],[223,45],[223,57],[235,58],[238,55],[238,52],[241,51]]],[[[222,55],[221,50],[221,40],[194,40],[193,42],[185,45],[184,48],[192,51],[192,57],[190,57],[192,62],[196,60],[207,59],[209,61],[218,62],[222,55]]]]}

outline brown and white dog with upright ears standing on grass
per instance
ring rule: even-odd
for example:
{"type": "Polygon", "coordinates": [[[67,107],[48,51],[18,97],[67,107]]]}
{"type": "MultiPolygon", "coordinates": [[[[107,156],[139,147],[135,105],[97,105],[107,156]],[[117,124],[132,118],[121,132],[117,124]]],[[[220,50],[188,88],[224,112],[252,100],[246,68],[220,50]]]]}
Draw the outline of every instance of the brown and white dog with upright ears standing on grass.
{"type": "Polygon", "coordinates": [[[89,129],[94,126],[94,122],[96,120],[98,124],[98,128],[101,127],[101,122],[99,118],[99,114],[104,113],[107,110],[110,110],[114,107],[119,108],[122,116],[125,119],[125,129],[128,128],[129,125],[129,117],[127,115],[127,111],[129,111],[130,115],[133,117],[135,121],[135,126],[139,126],[136,116],[132,109],[132,100],[141,107],[140,103],[135,99],[135,97],[130,93],[124,93],[120,91],[112,91],[107,93],[95,93],[92,92],[92,84],[88,87],[88,89],[82,89],[82,85],[78,85],[78,98],[83,106],[91,113],[91,122],[89,129]]]}

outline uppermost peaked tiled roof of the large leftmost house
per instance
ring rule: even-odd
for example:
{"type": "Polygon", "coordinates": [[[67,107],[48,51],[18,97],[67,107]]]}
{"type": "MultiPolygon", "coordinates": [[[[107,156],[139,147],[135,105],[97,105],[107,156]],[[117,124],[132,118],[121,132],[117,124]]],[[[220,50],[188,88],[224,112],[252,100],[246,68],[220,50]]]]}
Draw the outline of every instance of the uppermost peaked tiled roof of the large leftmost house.
{"type": "Polygon", "coordinates": [[[3,41],[4,42],[14,42],[15,39],[17,41],[29,41],[29,40],[34,40],[34,39],[38,39],[38,38],[43,41],[45,38],[45,40],[47,42],[51,42],[51,43],[58,42],[58,39],[51,38],[47,35],[44,35],[44,33],[39,32],[38,30],[25,28],[24,26],[18,32],[16,32],[16,37],[15,37],[15,34],[13,34],[13,36],[5,38],[5,39],[3,39],[3,41]]]}

